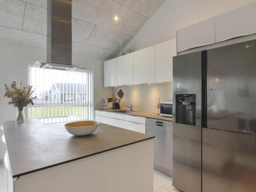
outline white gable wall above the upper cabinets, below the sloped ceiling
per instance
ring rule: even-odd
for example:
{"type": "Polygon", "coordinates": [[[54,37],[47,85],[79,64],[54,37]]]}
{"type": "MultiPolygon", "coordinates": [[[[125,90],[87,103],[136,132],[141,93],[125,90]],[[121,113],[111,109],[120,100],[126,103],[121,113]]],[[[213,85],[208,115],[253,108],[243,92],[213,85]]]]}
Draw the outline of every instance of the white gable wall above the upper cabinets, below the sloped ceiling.
{"type": "Polygon", "coordinates": [[[136,51],[176,38],[178,29],[196,24],[256,0],[165,0],[123,48],[136,51]]]}

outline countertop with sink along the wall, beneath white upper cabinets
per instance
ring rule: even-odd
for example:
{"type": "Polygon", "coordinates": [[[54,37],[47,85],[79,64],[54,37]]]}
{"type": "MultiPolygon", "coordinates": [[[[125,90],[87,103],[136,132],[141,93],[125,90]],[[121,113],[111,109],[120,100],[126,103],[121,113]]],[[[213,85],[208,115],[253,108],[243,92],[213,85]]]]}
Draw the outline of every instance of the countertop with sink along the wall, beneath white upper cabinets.
{"type": "MultiPolygon", "coordinates": [[[[116,110],[113,110],[113,109],[94,109],[94,110],[118,113],[118,112],[116,112],[116,110]]],[[[129,110],[127,110],[127,111],[129,111],[129,110]]],[[[152,112],[132,111],[130,113],[121,113],[121,114],[134,115],[134,116],[140,116],[140,117],[146,117],[146,118],[152,118],[152,119],[160,119],[160,120],[165,120],[165,121],[173,121],[172,117],[161,116],[161,115],[158,115],[158,114],[152,113],[152,112]]]]}

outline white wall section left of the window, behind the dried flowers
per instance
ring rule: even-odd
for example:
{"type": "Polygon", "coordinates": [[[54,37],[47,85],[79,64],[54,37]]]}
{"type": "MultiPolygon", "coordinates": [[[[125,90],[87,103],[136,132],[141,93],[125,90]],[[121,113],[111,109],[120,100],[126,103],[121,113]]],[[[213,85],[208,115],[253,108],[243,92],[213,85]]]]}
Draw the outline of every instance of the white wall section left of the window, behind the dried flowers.
{"type": "Polygon", "coordinates": [[[46,60],[46,50],[0,42],[0,120],[14,120],[16,109],[4,97],[4,83],[27,83],[27,61],[46,60]]]}

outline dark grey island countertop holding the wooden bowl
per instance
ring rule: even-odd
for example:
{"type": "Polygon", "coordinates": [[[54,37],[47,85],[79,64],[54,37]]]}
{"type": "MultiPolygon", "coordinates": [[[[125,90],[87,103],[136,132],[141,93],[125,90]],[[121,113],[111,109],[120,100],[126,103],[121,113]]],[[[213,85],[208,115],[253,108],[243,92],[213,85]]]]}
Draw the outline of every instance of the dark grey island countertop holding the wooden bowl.
{"type": "Polygon", "coordinates": [[[13,178],[154,138],[102,123],[93,134],[75,137],[64,124],[3,122],[13,178]]]}

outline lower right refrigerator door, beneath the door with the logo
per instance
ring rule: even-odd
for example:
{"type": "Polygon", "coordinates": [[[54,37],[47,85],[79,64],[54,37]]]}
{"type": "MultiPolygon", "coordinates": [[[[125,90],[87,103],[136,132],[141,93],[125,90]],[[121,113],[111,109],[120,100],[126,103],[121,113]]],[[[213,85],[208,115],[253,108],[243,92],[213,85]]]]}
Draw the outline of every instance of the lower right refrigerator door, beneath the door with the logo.
{"type": "Polygon", "coordinates": [[[203,128],[203,192],[256,191],[256,136],[203,128]]]}

